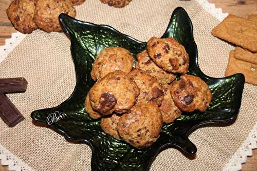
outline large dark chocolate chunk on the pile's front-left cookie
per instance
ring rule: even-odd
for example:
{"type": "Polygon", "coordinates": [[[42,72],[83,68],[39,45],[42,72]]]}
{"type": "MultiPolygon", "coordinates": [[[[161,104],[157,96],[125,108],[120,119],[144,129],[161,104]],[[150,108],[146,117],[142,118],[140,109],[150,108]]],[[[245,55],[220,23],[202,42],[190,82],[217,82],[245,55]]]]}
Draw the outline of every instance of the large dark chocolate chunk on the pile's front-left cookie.
{"type": "Polygon", "coordinates": [[[117,101],[113,94],[105,92],[100,97],[101,110],[111,110],[116,105],[117,101]]]}

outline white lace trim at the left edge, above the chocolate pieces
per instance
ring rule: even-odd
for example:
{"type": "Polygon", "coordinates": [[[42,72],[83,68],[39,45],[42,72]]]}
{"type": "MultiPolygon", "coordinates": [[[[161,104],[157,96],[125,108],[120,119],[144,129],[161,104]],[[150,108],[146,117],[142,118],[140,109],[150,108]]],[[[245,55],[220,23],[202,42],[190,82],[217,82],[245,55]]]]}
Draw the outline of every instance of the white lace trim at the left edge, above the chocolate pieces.
{"type": "Polygon", "coordinates": [[[26,34],[21,32],[12,33],[10,39],[5,40],[5,45],[0,46],[0,63],[4,61],[7,55],[19,44],[22,42],[26,34]]]}

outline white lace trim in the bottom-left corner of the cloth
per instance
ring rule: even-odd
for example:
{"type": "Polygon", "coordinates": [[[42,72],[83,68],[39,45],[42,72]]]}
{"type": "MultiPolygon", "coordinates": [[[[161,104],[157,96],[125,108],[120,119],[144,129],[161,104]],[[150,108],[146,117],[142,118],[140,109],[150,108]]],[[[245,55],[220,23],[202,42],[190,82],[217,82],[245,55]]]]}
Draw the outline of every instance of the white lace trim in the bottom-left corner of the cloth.
{"type": "Polygon", "coordinates": [[[0,160],[2,165],[8,165],[8,170],[33,171],[31,167],[16,158],[8,149],[0,144],[0,160]]]}

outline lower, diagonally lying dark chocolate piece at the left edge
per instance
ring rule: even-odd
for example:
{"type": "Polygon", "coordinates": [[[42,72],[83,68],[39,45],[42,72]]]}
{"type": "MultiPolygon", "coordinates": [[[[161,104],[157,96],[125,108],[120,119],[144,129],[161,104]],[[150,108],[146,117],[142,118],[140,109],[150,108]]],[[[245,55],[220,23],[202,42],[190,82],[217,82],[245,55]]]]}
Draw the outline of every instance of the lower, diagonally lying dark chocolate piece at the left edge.
{"type": "Polygon", "coordinates": [[[4,93],[0,93],[0,117],[9,127],[14,127],[25,119],[4,93]]]}

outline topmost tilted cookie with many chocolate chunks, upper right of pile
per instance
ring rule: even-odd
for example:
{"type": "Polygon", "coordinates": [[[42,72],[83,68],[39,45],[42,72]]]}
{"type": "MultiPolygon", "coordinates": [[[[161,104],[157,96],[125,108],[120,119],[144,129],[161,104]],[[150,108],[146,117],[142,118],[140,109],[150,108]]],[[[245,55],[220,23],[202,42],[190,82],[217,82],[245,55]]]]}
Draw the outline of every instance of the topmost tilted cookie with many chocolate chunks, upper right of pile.
{"type": "Polygon", "coordinates": [[[150,58],[162,69],[173,73],[187,73],[189,55],[185,47],[171,37],[152,37],[147,43],[150,58]]]}

